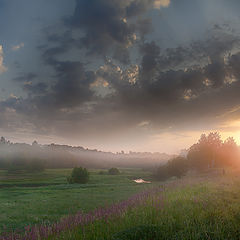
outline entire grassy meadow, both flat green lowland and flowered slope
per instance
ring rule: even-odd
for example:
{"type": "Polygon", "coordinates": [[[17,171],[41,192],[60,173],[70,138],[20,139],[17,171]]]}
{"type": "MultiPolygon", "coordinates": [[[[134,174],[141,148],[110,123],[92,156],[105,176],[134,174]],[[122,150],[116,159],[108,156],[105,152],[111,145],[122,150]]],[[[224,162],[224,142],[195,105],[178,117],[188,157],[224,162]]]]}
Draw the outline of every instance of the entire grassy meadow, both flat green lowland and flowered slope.
{"type": "MultiPolygon", "coordinates": [[[[61,184],[42,187],[14,187],[21,180],[5,175],[12,187],[0,190],[0,224],[19,229],[65,216],[57,224],[30,229],[27,240],[239,240],[239,172],[149,185],[132,181],[150,178],[148,172],[122,172],[109,176],[92,170],[89,184],[67,185],[70,170],[47,170],[48,181],[43,174],[34,181],[61,184]],[[76,214],[79,210],[83,213],[76,214]]],[[[31,184],[30,179],[24,182],[31,184]]]]}

